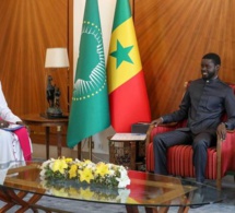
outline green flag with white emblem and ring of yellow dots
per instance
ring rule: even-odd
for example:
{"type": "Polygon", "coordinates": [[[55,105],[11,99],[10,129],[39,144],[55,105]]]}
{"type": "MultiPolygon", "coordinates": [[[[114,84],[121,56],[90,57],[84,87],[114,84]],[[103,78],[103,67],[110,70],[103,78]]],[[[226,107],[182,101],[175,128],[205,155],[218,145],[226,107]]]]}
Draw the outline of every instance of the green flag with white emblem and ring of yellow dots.
{"type": "Polygon", "coordinates": [[[97,0],[86,0],[67,144],[73,147],[83,139],[109,126],[108,91],[98,3],[97,0]]]}

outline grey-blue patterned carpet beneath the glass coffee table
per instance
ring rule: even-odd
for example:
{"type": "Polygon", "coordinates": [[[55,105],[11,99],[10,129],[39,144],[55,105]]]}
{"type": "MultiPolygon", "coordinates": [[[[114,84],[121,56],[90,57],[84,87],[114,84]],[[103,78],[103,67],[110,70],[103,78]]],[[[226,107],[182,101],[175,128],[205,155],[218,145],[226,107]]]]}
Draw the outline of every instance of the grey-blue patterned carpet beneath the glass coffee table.
{"type": "MultiPolygon", "coordinates": [[[[214,181],[208,182],[211,186],[214,186],[214,181]]],[[[198,209],[190,209],[190,213],[234,213],[235,211],[235,184],[233,176],[226,176],[223,179],[223,189],[222,193],[224,197],[223,202],[204,205],[198,209]]],[[[28,199],[28,198],[25,198],[28,199]]],[[[105,203],[93,203],[93,202],[82,202],[82,201],[71,201],[66,199],[55,199],[51,197],[43,197],[37,204],[44,206],[50,206],[55,209],[61,210],[61,212],[72,212],[72,213],[125,213],[126,208],[124,205],[117,204],[105,204],[105,203]]],[[[3,203],[0,202],[0,206],[3,203]]],[[[8,213],[15,213],[17,208],[13,208],[8,213]]],[[[171,208],[169,213],[177,212],[178,208],[171,208]]],[[[1,211],[0,211],[1,212],[1,211]]],[[[43,213],[45,211],[39,210],[38,213],[43,213]]],[[[144,213],[144,208],[139,206],[139,213],[144,213]]],[[[33,213],[32,210],[26,211],[26,213],[33,213]]]]}

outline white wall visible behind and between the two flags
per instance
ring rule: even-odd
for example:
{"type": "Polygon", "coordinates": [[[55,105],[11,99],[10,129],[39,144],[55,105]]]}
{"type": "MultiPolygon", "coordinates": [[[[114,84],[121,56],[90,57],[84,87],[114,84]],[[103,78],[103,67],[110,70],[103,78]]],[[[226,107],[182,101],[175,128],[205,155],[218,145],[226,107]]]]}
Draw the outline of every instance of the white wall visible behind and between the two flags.
{"type": "MultiPolygon", "coordinates": [[[[99,7],[99,16],[101,16],[101,24],[103,31],[103,42],[104,42],[104,51],[106,56],[107,62],[107,55],[109,48],[109,39],[111,35],[111,27],[113,27],[113,20],[114,20],[114,12],[115,12],[116,0],[98,0],[99,7]]],[[[85,8],[85,0],[74,0],[74,11],[73,11],[73,44],[74,44],[74,52],[73,52],[73,68],[75,73],[77,61],[79,56],[79,45],[80,45],[80,36],[82,29],[82,21],[85,8]]],[[[108,154],[108,141],[107,137],[114,134],[115,131],[113,128],[108,128],[107,130],[99,132],[93,137],[94,141],[94,150],[93,153],[104,153],[108,154]]],[[[82,151],[87,151],[87,142],[83,141],[82,143],[82,151]]]]}

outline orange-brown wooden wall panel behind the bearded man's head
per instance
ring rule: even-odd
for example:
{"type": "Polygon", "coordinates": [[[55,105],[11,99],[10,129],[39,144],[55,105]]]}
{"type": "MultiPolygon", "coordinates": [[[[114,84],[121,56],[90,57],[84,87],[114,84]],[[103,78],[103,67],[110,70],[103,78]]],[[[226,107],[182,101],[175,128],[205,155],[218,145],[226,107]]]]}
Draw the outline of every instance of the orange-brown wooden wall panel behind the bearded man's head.
{"type": "Polygon", "coordinates": [[[152,117],[178,108],[201,57],[221,56],[220,78],[235,82],[234,0],[134,0],[134,24],[152,117]]]}

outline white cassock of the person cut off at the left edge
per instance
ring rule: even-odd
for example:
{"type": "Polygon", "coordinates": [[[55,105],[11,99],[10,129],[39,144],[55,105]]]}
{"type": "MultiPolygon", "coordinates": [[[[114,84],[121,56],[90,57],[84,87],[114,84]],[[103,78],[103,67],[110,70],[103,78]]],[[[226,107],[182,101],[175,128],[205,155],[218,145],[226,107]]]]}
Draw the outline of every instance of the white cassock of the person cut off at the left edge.
{"type": "MultiPolygon", "coordinates": [[[[15,123],[21,119],[8,107],[0,82],[0,118],[15,123]]],[[[32,151],[32,144],[31,144],[32,151]]],[[[0,129],[0,163],[24,161],[24,155],[17,135],[11,131],[0,129]]]]}

